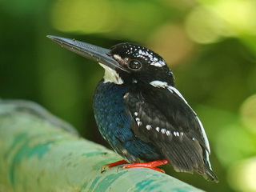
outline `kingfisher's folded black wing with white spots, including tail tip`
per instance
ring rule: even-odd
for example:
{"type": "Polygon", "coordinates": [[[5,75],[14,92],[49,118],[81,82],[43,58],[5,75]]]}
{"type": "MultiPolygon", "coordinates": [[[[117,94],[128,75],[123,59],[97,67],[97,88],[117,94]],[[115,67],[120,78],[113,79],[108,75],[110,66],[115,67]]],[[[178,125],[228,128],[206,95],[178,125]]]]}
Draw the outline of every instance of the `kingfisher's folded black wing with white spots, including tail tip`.
{"type": "Polygon", "coordinates": [[[150,87],[130,91],[125,102],[136,122],[131,127],[134,134],[156,146],[174,170],[217,179],[207,162],[208,149],[198,118],[178,94],[150,87]]]}

